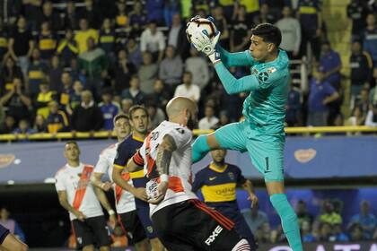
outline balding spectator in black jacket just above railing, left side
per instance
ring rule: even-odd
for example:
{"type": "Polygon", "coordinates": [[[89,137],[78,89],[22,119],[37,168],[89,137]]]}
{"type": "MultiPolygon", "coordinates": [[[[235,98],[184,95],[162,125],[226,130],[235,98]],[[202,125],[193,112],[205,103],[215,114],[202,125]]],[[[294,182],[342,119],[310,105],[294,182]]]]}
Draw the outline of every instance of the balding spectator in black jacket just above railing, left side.
{"type": "Polygon", "coordinates": [[[101,109],[92,99],[91,91],[83,91],[81,104],[74,109],[72,114],[72,128],[78,132],[99,131],[103,125],[101,109]]]}

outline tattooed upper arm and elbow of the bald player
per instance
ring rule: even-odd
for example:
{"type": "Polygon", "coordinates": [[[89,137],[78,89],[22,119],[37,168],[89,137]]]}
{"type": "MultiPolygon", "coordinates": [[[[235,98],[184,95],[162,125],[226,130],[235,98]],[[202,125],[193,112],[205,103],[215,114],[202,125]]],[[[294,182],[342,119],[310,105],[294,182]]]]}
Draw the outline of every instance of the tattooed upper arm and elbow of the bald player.
{"type": "Polygon", "coordinates": [[[156,166],[160,175],[169,175],[172,152],[177,150],[177,145],[170,134],[163,136],[162,143],[158,146],[156,166]]]}

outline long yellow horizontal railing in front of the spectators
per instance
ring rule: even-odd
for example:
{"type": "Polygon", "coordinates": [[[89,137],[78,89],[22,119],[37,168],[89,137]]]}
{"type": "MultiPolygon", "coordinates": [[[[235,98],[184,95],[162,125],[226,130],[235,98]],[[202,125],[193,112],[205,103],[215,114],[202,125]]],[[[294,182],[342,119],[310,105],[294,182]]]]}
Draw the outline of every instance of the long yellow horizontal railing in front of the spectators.
{"type": "MultiPolygon", "coordinates": [[[[210,134],[213,130],[194,129],[194,135],[210,134]]],[[[370,126],[307,126],[307,127],[286,127],[285,134],[346,134],[346,133],[377,133],[377,127],[370,126]]],[[[115,137],[113,132],[67,132],[57,134],[0,134],[0,142],[13,142],[22,140],[67,140],[67,139],[103,139],[115,137]]]]}

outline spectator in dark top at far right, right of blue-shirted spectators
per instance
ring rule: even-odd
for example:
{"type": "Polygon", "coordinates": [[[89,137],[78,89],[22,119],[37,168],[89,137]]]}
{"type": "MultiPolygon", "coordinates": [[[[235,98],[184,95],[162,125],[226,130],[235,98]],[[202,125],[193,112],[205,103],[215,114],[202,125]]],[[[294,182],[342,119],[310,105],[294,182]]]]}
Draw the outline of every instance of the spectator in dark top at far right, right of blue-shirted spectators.
{"type": "MultiPolygon", "coordinates": [[[[373,74],[373,62],[371,56],[362,50],[360,40],[352,43],[352,54],[349,57],[351,67],[351,100],[355,104],[355,98],[369,84],[373,74]]],[[[353,107],[353,106],[352,106],[353,107]]]]}

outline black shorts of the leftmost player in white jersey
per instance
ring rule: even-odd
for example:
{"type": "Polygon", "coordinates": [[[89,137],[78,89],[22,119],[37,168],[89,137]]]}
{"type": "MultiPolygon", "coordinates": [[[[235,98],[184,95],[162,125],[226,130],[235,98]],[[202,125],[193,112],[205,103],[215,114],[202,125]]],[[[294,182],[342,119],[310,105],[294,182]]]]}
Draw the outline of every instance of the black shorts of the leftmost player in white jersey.
{"type": "Polygon", "coordinates": [[[110,246],[112,243],[110,229],[104,216],[72,221],[77,248],[94,245],[96,247],[110,246]]]}

